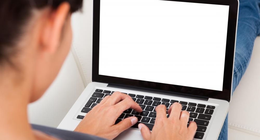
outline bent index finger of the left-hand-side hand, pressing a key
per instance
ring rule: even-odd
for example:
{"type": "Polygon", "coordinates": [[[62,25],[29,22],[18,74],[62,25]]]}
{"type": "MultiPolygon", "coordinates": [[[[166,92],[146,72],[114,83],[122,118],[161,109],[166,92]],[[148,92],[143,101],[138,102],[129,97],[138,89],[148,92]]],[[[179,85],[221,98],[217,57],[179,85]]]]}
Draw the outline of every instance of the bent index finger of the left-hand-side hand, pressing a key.
{"type": "Polygon", "coordinates": [[[118,110],[118,113],[116,115],[120,115],[123,111],[125,111],[128,108],[132,108],[137,112],[142,112],[142,108],[139,106],[139,104],[131,98],[124,99],[123,101],[115,104],[114,107],[118,110]]]}

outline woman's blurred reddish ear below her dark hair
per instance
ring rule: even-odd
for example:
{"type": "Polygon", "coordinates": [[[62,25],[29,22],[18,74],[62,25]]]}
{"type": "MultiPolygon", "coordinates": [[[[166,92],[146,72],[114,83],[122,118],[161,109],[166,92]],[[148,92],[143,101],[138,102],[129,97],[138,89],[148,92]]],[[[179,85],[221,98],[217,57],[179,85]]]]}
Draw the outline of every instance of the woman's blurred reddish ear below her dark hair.
{"type": "Polygon", "coordinates": [[[56,10],[51,10],[43,26],[41,44],[42,49],[54,53],[60,45],[64,23],[68,17],[70,5],[64,2],[56,10]]]}

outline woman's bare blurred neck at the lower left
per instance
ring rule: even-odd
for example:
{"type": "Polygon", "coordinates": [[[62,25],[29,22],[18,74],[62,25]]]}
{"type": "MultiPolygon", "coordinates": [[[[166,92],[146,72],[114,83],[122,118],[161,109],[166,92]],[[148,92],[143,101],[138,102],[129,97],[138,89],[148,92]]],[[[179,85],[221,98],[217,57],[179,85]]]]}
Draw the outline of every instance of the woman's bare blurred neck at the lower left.
{"type": "Polygon", "coordinates": [[[27,119],[28,80],[13,69],[0,73],[0,139],[34,139],[27,119]]]}

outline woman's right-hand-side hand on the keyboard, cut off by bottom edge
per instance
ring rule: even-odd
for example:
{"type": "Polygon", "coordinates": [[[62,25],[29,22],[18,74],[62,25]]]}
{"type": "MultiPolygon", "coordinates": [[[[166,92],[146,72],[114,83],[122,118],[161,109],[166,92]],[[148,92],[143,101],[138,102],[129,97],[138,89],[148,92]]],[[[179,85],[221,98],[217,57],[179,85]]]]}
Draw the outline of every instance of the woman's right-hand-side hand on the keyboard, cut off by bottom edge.
{"type": "Polygon", "coordinates": [[[169,118],[166,117],[166,107],[159,105],[156,107],[155,124],[151,131],[144,124],[139,124],[144,140],[192,140],[197,129],[195,122],[191,121],[187,128],[190,114],[187,111],[181,111],[181,105],[174,103],[168,110],[169,118]]]}

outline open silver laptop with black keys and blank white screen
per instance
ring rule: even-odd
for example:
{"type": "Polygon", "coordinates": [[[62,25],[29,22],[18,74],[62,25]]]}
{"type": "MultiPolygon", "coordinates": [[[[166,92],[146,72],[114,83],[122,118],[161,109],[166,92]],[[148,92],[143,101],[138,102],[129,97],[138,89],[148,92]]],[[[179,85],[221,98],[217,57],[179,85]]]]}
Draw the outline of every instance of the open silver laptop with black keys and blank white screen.
{"type": "MultiPolygon", "coordinates": [[[[229,109],[238,16],[237,0],[94,0],[92,81],[59,129],[74,130],[115,91],[143,109],[116,139],[141,140],[159,104],[174,102],[197,123],[194,139],[217,139],[229,109]]],[[[187,125],[189,125],[187,123],[187,125]]]]}

